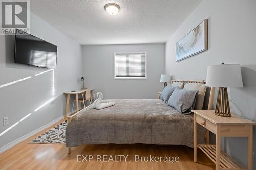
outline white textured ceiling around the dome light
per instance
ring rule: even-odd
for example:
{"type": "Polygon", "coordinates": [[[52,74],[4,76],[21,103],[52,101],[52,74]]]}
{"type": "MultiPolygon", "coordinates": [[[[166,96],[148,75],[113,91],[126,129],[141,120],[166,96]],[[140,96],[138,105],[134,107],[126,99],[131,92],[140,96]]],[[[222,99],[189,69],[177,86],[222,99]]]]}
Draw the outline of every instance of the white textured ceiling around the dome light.
{"type": "Polygon", "coordinates": [[[202,0],[31,0],[31,12],[82,45],[161,43],[202,0]],[[104,10],[116,3],[120,12],[104,10]]]}

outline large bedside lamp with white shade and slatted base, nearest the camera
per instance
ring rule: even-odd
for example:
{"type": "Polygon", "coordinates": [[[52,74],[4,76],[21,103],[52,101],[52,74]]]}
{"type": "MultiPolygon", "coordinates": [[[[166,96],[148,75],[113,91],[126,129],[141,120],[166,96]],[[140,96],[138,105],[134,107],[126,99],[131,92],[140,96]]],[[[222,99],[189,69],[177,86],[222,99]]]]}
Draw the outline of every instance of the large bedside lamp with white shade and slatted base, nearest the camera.
{"type": "Polygon", "coordinates": [[[227,87],[243,87],[240,65],[221,63],[208,66],[206,86],[219,87],[215,114],[230,117],[227,87]]]}

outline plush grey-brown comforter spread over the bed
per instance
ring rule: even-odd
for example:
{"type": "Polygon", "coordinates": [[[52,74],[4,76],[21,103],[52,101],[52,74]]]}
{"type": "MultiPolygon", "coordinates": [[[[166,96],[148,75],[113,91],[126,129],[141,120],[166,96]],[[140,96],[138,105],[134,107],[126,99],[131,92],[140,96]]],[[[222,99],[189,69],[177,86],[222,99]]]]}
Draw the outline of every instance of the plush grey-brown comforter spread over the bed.
{"type": "MultiPolygon", "coordinates": [[[[116,105],[89,108],[66,129],[66,146],[82,144],[175,144],[193,147],[193,115],[184,115],[159,99],[102,100],[116,105]]],[[[198,143],[205,130],[198,126],[198,143]]]]}

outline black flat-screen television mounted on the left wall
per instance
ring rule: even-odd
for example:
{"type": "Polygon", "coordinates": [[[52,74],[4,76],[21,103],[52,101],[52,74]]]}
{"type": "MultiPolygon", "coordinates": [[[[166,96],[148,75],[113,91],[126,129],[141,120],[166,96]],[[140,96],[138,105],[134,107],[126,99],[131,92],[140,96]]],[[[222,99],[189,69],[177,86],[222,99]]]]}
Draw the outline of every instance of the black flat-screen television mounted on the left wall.
{"type": "Polygon", "coordinates": [[[16,29],[14,63],[56,68],[57,46],[16,29]]]}

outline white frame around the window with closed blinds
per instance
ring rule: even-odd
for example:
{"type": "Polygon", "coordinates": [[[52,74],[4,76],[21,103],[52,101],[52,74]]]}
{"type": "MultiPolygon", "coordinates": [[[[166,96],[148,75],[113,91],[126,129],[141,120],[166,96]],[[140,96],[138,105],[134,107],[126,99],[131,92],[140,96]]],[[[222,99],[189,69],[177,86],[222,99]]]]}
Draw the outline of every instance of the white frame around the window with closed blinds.
{"type": "Polygon", "coordinates": [[[114,52],[114,79],[147,79],[147,52],[114,52]],[[136,54],[136,53],[144,53],[145,54],[145,77],[116,77],[116,55],[117,54],[136,54]]]}

